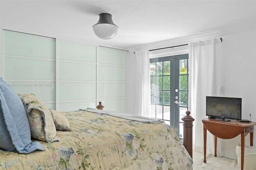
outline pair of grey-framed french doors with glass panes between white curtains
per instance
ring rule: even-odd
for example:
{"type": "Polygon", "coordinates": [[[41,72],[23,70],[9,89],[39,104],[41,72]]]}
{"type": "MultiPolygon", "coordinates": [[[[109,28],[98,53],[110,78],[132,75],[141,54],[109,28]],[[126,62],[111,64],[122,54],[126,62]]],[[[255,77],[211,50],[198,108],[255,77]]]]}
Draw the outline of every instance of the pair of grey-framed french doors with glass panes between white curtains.
{"type": "Polygon", "coordinates": [[[188,110],[188,54],[150,59],[151,117],[170,125],[183,139],[188,110]]]}

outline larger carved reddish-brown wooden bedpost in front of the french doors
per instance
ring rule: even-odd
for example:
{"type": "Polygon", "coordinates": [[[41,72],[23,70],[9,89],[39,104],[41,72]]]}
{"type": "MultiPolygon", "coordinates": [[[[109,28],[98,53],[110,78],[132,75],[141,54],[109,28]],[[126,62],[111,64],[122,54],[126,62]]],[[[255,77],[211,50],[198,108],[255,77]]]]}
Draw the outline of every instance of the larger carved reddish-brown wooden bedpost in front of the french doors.
{"type": "Polygon", "coordinates": [[[186,116],[184,116],[181,120],[183,121],[183,145],[185,146],[186,150],[192,157],[192,134],[193,134],[193,121],[195,120],[193,117],[190,116],[190,111],[186,111],[186,116]]]}

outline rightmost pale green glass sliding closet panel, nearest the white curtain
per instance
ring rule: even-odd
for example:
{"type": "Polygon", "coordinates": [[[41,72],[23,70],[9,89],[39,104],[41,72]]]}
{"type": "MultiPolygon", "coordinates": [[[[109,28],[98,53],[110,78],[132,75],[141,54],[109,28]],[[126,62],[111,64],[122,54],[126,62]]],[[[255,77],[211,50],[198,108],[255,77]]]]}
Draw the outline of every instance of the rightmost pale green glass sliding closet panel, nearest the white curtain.
{"type": "Polygon", "coordinates": [[[105,110],[126,113],[126,51],[98,47],[97,98],[105,110]]]}

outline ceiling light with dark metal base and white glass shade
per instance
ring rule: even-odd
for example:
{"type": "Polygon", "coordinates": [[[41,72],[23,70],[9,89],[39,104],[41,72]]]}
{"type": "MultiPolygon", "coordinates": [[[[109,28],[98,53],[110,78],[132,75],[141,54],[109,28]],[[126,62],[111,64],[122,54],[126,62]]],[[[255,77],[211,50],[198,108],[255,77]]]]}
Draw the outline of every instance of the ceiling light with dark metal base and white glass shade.
{"type": "Polygon", "coordinates": [[[118,31],[118,26],[114,24],[112,15],[108,13],[100,14],[98,22],[92,28],[96,36],[103,40],[113,38],[118,31]]]}

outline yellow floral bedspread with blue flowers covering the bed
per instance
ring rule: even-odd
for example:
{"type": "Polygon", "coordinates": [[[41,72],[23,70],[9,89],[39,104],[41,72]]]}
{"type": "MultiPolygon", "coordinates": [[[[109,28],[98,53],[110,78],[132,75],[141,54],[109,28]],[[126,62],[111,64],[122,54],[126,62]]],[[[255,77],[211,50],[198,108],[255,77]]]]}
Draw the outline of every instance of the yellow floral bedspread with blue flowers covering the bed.
{"type": "Polygon", "coordinates": [[[71,132],[46,151],[19,154],[0,150],[4,170],[191,170],[192,159],[172,128],[86,111],[62,112],[71,132]]]}

